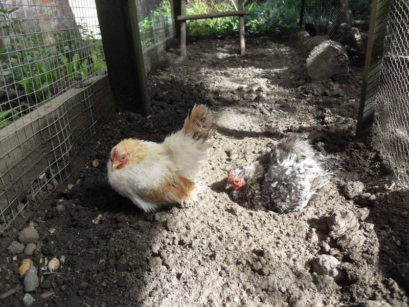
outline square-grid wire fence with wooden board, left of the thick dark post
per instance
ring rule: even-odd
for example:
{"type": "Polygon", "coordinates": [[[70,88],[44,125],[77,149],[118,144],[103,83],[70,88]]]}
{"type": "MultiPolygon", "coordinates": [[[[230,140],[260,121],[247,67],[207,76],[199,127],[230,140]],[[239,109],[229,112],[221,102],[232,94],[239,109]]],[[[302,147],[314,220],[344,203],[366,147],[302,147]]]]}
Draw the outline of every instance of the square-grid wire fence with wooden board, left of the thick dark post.
{"type": "Polygon", "coordinates": [[[69,177],[113,104],[95,1],[2,0],[0,10],[3,240],[69,177]]]}

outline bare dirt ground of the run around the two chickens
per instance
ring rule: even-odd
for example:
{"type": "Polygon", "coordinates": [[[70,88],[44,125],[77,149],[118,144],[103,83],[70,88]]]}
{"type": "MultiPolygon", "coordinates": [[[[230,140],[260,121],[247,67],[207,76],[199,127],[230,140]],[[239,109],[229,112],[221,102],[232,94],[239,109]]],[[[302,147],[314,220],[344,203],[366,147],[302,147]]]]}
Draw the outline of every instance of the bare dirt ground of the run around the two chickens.
{"type": "MultiPolygon", "coordinates": [[[[240,57],[237,38],[190,41],[185,61],[171,49],[169,65],[149,75],[150,115],[117,114],[81,151],[78,176],[27,225],[39,233],[33,306],[407,305],[409,196],[369,140],[353,138],[361,68],[310,82],[285,37],[246,44],[240,57]],[[162,141],[194,103],[217,123],[197,200],[145,214],[109,188],[108,152],[125,137],[162,141]],[[286,215],[232,202],[229,170],[291,134],[344,160],[331,184],[286,215]],[[336,281],[316,268],[323,254],[339,261],[336,281]],[[48,273],[46,258],[62,256],[48,273]]],[[[0,258],[0,294],[17,287],[2,306],[23,305],[24,258],[0,258]]]]}

